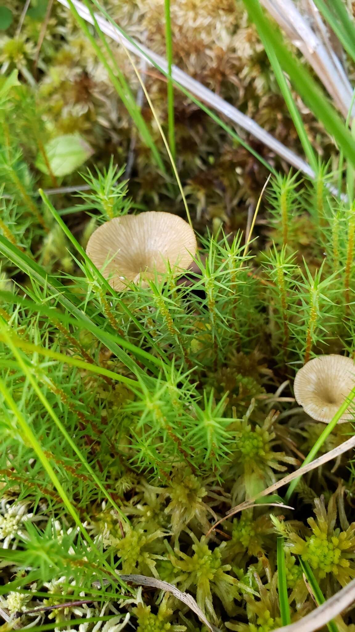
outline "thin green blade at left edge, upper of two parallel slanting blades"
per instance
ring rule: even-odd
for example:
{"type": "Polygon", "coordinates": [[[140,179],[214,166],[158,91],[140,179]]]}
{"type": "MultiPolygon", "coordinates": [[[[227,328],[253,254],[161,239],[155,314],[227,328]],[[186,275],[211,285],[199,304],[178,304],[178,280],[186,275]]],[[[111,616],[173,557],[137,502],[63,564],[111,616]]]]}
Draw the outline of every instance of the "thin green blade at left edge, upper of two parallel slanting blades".
{"type": "MultiPolygon", "coordinates": [[[[99,480],[99,478],[97,477],[97,475],[93,471],[92,467],[88,464],[87,459],[85,459],[83,457],[83,455],[81,454],[81,451],[78,448],[78,446],[76,445],[76,442],[73,441],[71,436],[68,434],[68,432],[66,431],[66,428],[64,427],[63,423],[61,422],[59,417],[56,415],[54,410],[52,409],[51,404],[49,404],[49,401],[47,400],[47,398],[45,398],[45,396],[42,393],[39,385],[37,384],[37,381],[33,378],[32,371],[30,370],[30,367],[28,367],[28,365],[25,362],[23,362],[22,356],[18,352],[18,349],[16,349],[16,346],[13,343],[13,341],[11,339],[11,336],[9,335],[9,333],[6,331],[5,328],[2,327],[1,329],[3,329],[3,331],[1,332],[1,336],[4,337],[6,344],[8,345],[8,347],[13,352],[13,355],[15,356],[15,358],[16,358],[16,360],[18,362],[18,365],[19,365],[19,367],[21,368],[21,370],[23,372],[23,375],[25,375],[27,377],[28,382],[30,382],[30,384],[32,385],[33,390],[37,393],[37,397],[39,398],[40,402],[43,404],[45,410],[47,410],[47,412],[51,416],[52,420],[56,424],[57,428],[59,428],[60,432],[63,434],[63,436],[65,437],[66,441],[68,441],[69,446],[71,447],[71,449],[73,449],[73,451],[75,452],[76,456],[78,456],[78,459],[81,461],[83,466],[88,470],[90,476],[92,477],[93,481],[96,483],[97,487],[99,487],[99,489],[102,492],[102,494],[104,494],[105,498],[107,498],[107,501],[109,501],[109,503],[112,505],[112,507],[114,507],[114,509],[116,509],[117,513],[121,517],[121,520],[129,523],[128,518],[121,511],[121,509],[116,504],[114,499],[112,499],[111,495],[105,490],[104,485],[102,485],[102,482],[99,480]]],[[[67,356],[63,356],[63,357],[65,358],[64,362],[66,362],[67,361],[67,356]]],[[[133,380],[130,380],[130,381],[133,381],[133,380]]]]}

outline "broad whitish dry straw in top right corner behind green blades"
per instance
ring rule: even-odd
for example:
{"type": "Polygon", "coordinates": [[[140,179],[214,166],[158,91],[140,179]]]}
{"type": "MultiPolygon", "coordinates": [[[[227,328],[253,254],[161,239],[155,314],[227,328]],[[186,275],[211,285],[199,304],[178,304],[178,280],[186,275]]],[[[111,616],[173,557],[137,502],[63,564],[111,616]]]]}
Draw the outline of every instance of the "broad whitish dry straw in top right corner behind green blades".
{"type": "Polygon", "coordinates": [[[284,30],[292,44],[302,52],[334,100],[335,106],[346,118],[352,107],[351,83],[334,52],[327,28],[313,0],[304,0],[306,16],[300,13],[292,0],[260,0],[260,3],[284,30]]]}

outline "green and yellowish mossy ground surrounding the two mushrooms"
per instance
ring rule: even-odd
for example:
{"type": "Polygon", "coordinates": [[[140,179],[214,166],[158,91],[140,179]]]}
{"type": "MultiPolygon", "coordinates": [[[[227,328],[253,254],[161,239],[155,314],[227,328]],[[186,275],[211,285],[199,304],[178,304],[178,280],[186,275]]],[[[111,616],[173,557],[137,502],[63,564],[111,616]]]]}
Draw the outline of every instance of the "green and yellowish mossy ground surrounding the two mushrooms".
{"type": "MultiPolygon", "coordinates": [[[[18,69],[21,85],[4,106],[1,131],[3,629],[51,621],[80,632],[201,629],[168,593],[118,588],[118,572],[176,585],[220,629],[268,632],[282,624],[279,537],[297,621],[314,607],[300,559],[326,598],[355,576],[351,455],[304,476],[293,509],[255,506],[206,534],[232,506],[297,468],[322,433],[292,399],[292,380],[312,355],[354,354],[355,207],[330,197],[322,168],[316,185],[274,178],[248,255],[238,229],[245,231],[266,170],[177,92],[177,166],[199,234],[195,271],[111,296],[38,203],[38,186],[90,182],[87,195],[51,198],[84,248],[96,224],[123,212],[183,215],[178,186],[165,158],[169,176],[153,164],[69,12],[53,4],[37,56],[45,3],[31,5],[20,33],[23,5],[8,6],[13,25],[1,61],[8,73],[18,69]],[[81,167],[87,180],[78,170],[57,178],[36,168],[40,148],[68,133],[94,150],[92,175],[81,167]],[[129,156],[125,185],[115,169],[129,156]]],[[[161,3],[110,0],[107,10],[164,54],[161,3]]],[[[241,5],[189,0],[172,8],[172,21],[174,61],[298,150],[241,5]]],[[[136,92],[124,52],[113,50],[136,92]]],[[[141,71],[165,127],[166,85],[141,71]]],[[[142,113],[162,150],[145,102],[142,113]]],[[[328,159],[326,135],[308,112],[304,119],[328,159]]],[[[352,423],[338,425],[320,453],[351,434],[352,423]]],[[[339,632],[354,632],[352,612],[343,619],[339,632]]]]}

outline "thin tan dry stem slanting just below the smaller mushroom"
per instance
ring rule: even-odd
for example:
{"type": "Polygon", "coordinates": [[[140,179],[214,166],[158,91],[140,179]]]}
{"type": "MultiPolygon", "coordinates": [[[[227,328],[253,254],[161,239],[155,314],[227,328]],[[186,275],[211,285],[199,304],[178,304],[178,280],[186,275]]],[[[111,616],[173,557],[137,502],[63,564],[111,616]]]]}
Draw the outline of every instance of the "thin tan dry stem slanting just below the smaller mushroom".
{"type": "Polygon", "coordinates": [[[231,518],[231,516],[239,513],[239,511],[243,511],[243,509],[249,509],[250,506],[259,498],[262,498],[263,496],[267,496],[269,494],[273,494],[275,490],[283,487],[284,485],[286,485],[286,483],[291,483],[291,480],[294,480],[294,478],[299,478],[303,474],[306,474],[311,470],[315,470],[320,465],[328,463],[328,461],[332,461],[332,459],[336,459],[338,456],[340,456],[340,454],[344,454],[344,452],[347,452],[352,447],[355,447],[355,435],[354,437],[347,439],[347,441],[344,441],[344,443],[342,443],[340,446],[337,446],[333,450],[330,450],[326,454],[318,456],[317,459],[311,461],[311,463],[308,463],[308,465],[303,465],[301,466],[301,468],[299,468],[299,470],[291,472],[291,474],[287,474],[286,477],[281,478],[281,480],[278,480],[276,483],[273,483],[273,485],[270,485],[270,487],[267,487],[259,494],[256,494],[255,496],[253,496],[253,498],[248,499],[248,501],[241,502],[241,504],[237,505],[236,507],[232,507],[232,509],[229,509],[226,516],[224,516],[218,522],[212,525],[206,535],[209,535],[216,526],[220,525],[220,523],[224,522],[224,520],[227,520],[227,518],[231,518]]]}

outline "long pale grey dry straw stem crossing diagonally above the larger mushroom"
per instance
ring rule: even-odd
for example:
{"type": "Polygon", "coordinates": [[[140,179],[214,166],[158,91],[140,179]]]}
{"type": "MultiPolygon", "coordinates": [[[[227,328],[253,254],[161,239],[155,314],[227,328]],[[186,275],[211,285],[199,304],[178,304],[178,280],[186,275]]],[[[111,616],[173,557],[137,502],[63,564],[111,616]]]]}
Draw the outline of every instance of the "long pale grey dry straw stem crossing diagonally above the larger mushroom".
{"type": "MultiPolygon", "coordinates": [[[[57,2],[69,8],[67,0],[57,0],[57,2]]],[[[90,24],[93,24],[93,18],[86,6],[79,0],[72,0],[72,3],[81,18],[83,18],[87,22],[90,22],[90,24]]],[[[111,39],[113,39],[115,42],[118,42],[119,44],[122,44],[128,51],[135,53],[136,55],[138,55],[138,57],[146,59],[147,63],[150,65],[153,65],[150,61],[152,59],[158,66],[160,66],[160,68],[162,68],[162,70],[164,70],[164,72],[167,73],[168,67],[166,59],[151,51],[150,49],[148,49],[147,46],[144,46],[143,44],[139,44],[138,42],[136,43],[136,45],[132,44],[128,39],[126,39],[126,37],[121,35],[118,28],[115,28],[109,21],[105,20],[105,18],[99,15],[99,13],[94,13],[94,16],[97,24],[99,25],[102,32],[105,33],[105,35],[109,35],[111,39]]],[[[255,123],[253,119],[249,118],[249,116],[246,116],[246,114],[239,112],[236,107],[227,103],[227,101],[219,97],[219,95],[214,94],[212,90],[206,88],[204,85],[202,85],[202,83],[196,81],[187,73],[184,73],[184,71],[180,70],[180,68],[178,68],[177,66],[172,66],[171,75],[174,81],[178,82],[180,85],[186,88],[186,90],[189,90],[191,94],[195,95],[198,99],[208,104],[208,106],[213,107],[224,116],[227,116],[227,118],[231,119],[231,121],[236,123],[236,125],[239,125],[241,128],[243,128],[243,130],[248,131],[252,136],[258,138],[258,140],[260,140],[267,147],[270,147],[270,149],[274,151],[275,154],[279,155],[286,162],[296,167],[296,169],[298,169],[299,171],[302,171],[302,173],[306,174],[306,176],[309,176],[310,178],[315,178],[315,173],[313,169],[311,169],[309,164],[307,164],[307,162],[305,162],[303,159],[301,159],[301,157],[292,152],[291,149],[288,149],[287,147],[285,147],[285,145],[282,145],[282,143],[276,140],[276,138],[274,138],[267,131],[263,130],[263,128],[255,123]]]]}

